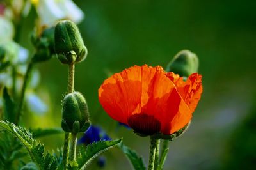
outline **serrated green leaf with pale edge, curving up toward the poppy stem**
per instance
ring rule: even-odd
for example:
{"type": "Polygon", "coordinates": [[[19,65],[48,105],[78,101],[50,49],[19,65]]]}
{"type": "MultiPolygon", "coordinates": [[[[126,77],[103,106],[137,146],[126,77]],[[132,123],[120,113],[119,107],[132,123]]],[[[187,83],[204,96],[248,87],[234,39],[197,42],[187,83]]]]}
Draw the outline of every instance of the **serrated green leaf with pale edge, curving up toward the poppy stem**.
{"type": "Polygon", "coordinates": [[[113,148],[118,143],[121,143],[122,139],[115,141],[97,141],[95,143],[88,144],[86,148],[81,147],[79,152],[77,163],[79,164],[78,169],[84,169],[94,158],[103,153],[104,151],[113,148]]]}

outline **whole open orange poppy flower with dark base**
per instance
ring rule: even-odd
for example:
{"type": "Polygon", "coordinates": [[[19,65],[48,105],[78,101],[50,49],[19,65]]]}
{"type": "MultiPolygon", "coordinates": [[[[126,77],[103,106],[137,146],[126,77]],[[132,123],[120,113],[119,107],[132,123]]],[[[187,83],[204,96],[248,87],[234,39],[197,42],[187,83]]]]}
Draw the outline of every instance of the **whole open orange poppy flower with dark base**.
{"type": "Polygon", "coordinates": [[[161,66],[132,66],[106,79],[99,101],[111,118],[135,132],[169,135],[185,127],[202,93],[202,75],[184,82],[161,66]]]}

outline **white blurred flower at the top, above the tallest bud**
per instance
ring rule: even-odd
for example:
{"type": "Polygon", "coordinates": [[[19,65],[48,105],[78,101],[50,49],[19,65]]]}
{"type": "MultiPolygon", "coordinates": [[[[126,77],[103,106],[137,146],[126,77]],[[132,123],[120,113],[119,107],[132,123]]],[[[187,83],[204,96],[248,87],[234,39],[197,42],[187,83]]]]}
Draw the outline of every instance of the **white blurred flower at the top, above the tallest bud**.
{"type": "Polygon", "coordinates": [[[31,0],[42,25],[53,26],[58,20],[69,19],[78,24],[84,18],[83,11],[72,0],[31,0]]]}

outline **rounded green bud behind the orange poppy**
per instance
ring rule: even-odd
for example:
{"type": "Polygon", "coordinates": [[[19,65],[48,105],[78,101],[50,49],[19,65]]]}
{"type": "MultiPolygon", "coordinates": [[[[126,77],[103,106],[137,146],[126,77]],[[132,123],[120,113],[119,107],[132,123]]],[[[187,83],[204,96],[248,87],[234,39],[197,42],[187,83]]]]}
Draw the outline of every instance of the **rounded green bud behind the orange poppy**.
{"type": "Polygon", "coordinates": [[[182,50],[168,63],[166,72],[174,72],[180,76],[188,77],[191,73],[198,72],[198,57],[189,50],[182,50]]]}

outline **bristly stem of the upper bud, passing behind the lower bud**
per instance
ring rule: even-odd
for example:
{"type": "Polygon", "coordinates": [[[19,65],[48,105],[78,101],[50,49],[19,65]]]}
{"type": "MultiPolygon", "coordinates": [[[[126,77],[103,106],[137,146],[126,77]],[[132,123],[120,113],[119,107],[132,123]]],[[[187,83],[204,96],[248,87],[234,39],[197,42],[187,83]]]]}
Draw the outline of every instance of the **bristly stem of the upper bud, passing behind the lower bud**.
{"type": "MultiPolygon", "coordinates": [[[[74,79],[75,79],[75,64],[71,63],[68,65],[68,91],[72,93],[74,91],[74,79]]],[[[70,144],[70,133],[65,132],[65,140],[63,146],[63,166],[67,169],[68,166],[68,155],[69,155],[69,144],[70,144]]]]}

